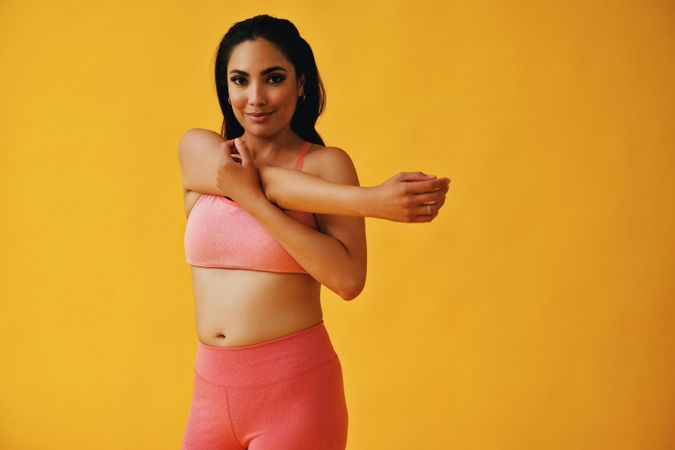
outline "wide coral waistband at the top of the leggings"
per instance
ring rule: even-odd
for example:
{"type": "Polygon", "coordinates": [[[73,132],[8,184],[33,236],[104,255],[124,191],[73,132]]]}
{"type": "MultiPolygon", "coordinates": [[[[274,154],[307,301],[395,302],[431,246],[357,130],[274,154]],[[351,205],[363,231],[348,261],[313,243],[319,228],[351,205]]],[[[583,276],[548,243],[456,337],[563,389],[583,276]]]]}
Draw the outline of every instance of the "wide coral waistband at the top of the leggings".
{"type": "Polygon", "coordinates": [[[337,358],[324,321],[296,333],[241,347],[197,340],[195,373],[221,386],[257,386],[299,375],[337,358]]]}

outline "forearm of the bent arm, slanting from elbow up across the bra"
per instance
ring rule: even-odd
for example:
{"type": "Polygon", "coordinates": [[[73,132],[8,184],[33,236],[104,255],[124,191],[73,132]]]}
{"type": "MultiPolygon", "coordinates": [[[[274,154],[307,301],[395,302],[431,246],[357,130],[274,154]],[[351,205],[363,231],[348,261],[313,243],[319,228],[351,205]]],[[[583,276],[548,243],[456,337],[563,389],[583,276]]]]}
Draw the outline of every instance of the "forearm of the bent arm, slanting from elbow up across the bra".
{"type": "Polygon", "coordinates": [[[354,262],[333,236],[307,227],[260,196],[247,211],[314,279],[343,298],[350,298],[358,284],[354,262]]]}

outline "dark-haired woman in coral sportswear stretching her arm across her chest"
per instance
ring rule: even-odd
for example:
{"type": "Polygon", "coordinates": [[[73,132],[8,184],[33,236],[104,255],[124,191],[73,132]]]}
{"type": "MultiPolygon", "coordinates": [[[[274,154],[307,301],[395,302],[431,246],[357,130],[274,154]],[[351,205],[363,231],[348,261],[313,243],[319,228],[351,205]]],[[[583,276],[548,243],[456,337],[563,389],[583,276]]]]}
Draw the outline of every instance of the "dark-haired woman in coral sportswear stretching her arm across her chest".
{"type": "Polygon", "coordinates": [[[222,135],[192,129],[179,145],[198,335],[182,449],[344,449],[320,287],[357,297],[364,216],[428,222],[449,180],[403,173],[361,188],[348,154],[314,129],[323,86],[287,20],[233,25],[215,76],[222,135]]]}

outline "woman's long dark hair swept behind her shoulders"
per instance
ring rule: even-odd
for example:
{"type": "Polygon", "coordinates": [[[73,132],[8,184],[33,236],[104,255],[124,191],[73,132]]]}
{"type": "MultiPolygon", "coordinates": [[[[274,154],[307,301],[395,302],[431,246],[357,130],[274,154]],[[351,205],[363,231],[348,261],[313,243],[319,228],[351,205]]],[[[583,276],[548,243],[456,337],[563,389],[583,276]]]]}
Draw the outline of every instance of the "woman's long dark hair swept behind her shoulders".
{"type": "Polygon", "coordinates": [[[315,124],[325,109],[326,91],[316,67],[314,53],[289,20],[261,14],[237,22],[223,36],[216,52],[215,82],[218,103],[223,112],[223,125],[220,134],[224,139],[234,139],[244,134],[244,128],[234,116],[232,105],[227,101],[227,63],[232,50],[244,41],[263,38],[275,45],[293,64],[297,80],[305,75],[305,100],[300,101],[291,119],[291,128],[306,141],[325,145],[316,131],[315,124]]]}

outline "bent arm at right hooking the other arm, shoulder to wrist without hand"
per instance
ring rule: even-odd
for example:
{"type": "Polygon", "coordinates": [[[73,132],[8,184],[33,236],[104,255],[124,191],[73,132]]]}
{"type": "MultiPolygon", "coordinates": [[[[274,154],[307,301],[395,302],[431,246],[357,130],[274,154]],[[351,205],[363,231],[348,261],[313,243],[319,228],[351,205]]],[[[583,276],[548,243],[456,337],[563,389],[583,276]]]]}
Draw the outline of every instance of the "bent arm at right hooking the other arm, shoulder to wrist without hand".
{"type": "MultiPolygon", "coordinates": [[[[359,186],[356,168],[342,149],[317,151],[319,176],[333,183],[359,186]],[[320,153],[320,154],[319,154],[320,153]]],[[[365,219],[358,216],[315,214],[314,230],[282,212],[265,195],[241,205],[312,276],[345,300],[356,298],[366,283],[365,219]]]]}

